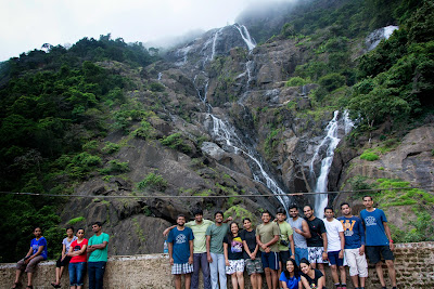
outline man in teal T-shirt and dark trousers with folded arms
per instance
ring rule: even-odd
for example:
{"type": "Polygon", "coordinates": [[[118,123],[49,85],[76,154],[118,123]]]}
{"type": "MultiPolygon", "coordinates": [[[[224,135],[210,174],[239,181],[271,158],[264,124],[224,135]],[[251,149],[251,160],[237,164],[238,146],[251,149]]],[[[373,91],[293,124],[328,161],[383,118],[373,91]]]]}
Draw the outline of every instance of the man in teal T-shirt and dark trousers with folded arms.
{"type": "Polygon", "coordinates": [[[102,233],[101,222],[92,224],[94,235],[90,237],[87,252],[88,259],[88,275],[89,289],[102,289],[105,265],[107,264],[107,245],[110,236],[102,233]]]}

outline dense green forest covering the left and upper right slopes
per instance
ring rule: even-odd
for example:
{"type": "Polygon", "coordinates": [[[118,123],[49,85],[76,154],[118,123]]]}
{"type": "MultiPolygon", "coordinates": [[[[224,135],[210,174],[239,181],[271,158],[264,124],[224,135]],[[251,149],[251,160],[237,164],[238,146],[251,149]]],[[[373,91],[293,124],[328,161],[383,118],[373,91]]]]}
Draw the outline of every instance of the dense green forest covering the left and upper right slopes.
{"type": "MultiPolygon", "coordinates": [[[[264,36],[263,44],[294,39],[306,50],[308,61],[295,68],[288,86],[317,83],[312,101],[318,106],[349,109],[358,121],[350,135],[354,139],[384,123],[393,134],[430,121],[434,111],[434,3],[331,2],[299,4],[288,12],[269,39],[260,27],[254,27],[258,38],[264,36]],[[349,50],[371,30],[392,24],[399,29],[373,51],[349,50]]],[[[104,162],[104,156],[119,148],[110,142],[101,147],[100,141],[110,132],[126,132],[136,121],[141,123],[135,131],[137,137],[159,139],[163,145],[190,149],[179,134],[171,139],[153,134],[145,118],[162,109],[158,100],[142,104],[128,96],[136,90],[164,91],[143,68],[161,60],[157,49],[106,35],[99,40],[84,38],[68,49],[47,43],[0,65],[0,191],[48,195],[0,195],[0,229],[5,233],[0,262],[16,261],[26,251],[36,225],[43,224],[50,244],[60,242],[59,211],[66,198],[52,195],[71,194],[94,175],[128,170],[125,162],[104,162]],[[113,64],[119,67],[113,69],[113,64]],[[123,66],[140,71],[144,87],[124,74],[123,66]],[[10,244],[16,246],[11,249],[10,244]]],[[[58,249],[49,247],[51,258],[58,249]]]]}

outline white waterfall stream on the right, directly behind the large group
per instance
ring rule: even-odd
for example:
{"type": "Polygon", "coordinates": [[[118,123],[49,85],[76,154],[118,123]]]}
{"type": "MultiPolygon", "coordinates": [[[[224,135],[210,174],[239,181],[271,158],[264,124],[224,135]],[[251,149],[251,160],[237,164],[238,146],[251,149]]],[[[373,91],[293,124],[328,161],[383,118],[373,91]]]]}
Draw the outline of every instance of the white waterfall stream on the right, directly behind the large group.
{"type": "MultiPolygon", "coordinates": [[[[309,165],[310,175],[315,178],[315,165],[316,160],[321,159],[321,168],[320,174],[316,180],[315,193],[326,193],[327,185],[328,185],[328,176],[330,172],[330,168],[333,162],[334,157],[334,149],[336,148],[337,144],[340,143],[341,139],[339,139],[339,110],[335,110],[333,114],[332,120],[329,121],[328,126],[326,127],[326,136],[322,139],[319,146],[316,148],[314,157],[309,165]]],[[[348,111],[344,111],[342,116],[343,128],[345,134],[347,134],[354,127],[353,121],[348,117],[348,111]]],[[[318,218],[323,218],[324,208],[328,205],[328,195],[327,194],[318,194],[315,195],[315,215],[318,218]]]]}

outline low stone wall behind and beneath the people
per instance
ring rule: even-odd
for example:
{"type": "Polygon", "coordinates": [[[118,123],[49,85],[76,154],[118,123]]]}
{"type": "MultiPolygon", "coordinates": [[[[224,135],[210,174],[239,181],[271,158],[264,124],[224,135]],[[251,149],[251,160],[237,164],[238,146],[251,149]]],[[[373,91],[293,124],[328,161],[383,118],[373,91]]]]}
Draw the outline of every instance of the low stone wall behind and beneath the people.
{"type": "MultiPolygon", "coordinates": [[[[395,258],[398,288],[434,288],[434,242],[398,244],[395,258]]],[[[35,274],[34,288],[52,288],[50,283],[54,280],[54,261],[39,264],[35,274]]],[[[384,273],[390,286],[385,266],[384,273]]],[[[329,268],[327,268],[327,275],[328,287],[334,288],[329,268]]],[[[15,264],[0,264],[0,288],[10,288],[14,276],[15,264]]],[[[251,288],[248,277],[245,276],[245,279],[246,288],[251,288]]],[[[21,280],[24,284],[26,277],[23,275],[21,280]]],[[[229,284],[230,281],[228,281],[228,288],[231,288],[229,284]]],[[[350,284],[349,277],[348,284],[350,284]]],[[[63,277],[62,288],[68,288],[67,272],[63,277]]],[[[111,257],[104,275],[104,288],[174,288],[167,254],[111,257]]],[[[348,286],[348,288],[353,287],[348,286]]],[[[367,288],[380,288],[373,266],[369,267],[367,288]]]]}

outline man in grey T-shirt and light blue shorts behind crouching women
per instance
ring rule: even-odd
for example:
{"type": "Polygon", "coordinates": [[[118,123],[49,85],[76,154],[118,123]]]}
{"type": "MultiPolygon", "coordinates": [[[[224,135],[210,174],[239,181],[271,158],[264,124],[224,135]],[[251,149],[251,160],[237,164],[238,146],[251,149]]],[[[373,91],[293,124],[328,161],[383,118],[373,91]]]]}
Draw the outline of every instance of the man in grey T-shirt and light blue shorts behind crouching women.
{"type": "Polygon", "coordinates": [[[299,218],[298,208],[296,205],[291,205],[290,216],[291,218],[288,220],[288,223],[290,223],[294,232],[293,239],[295,247],[295,253],[292,252],[292,254],[295,255],[295,263],[299,265],[299,260],[302,260],[303,258],[305,258],[306,260],[309,259],[306,238],[310,238],[310,231],[307,222],[303,218],[299,218]]]}

